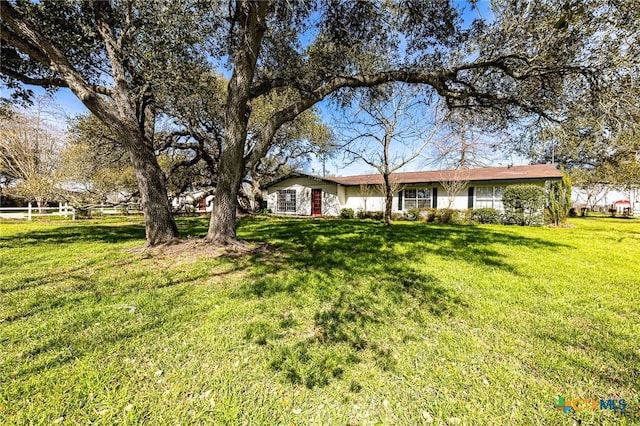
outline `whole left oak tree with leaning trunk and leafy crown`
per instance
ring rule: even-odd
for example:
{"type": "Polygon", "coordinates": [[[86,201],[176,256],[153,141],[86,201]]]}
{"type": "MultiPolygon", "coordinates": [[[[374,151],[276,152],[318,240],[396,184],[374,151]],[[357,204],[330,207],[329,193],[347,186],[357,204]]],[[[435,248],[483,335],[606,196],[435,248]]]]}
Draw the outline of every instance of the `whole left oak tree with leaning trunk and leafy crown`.
{"type": "Polygon", "coordinates": [[[188,62],[195,40],[180,25],[197,19],[194,9],[180,2],[3,1],[0,16],[5,85],[22,99],[28,92],[21,85],[69,88],[126,149],[148,244],[177,237],[155,155],[154,90],[169,78],[162,70],[188,62]]]}

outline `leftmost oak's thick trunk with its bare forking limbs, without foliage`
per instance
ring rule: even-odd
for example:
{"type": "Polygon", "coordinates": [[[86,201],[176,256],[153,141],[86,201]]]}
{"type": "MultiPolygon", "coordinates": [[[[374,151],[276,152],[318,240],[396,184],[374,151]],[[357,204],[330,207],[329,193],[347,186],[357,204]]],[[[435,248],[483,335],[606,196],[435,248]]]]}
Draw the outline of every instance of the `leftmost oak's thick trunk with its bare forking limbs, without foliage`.
{"type": "MultiPolygon", "coordinates": [[[[21,37],[28,40],[27,43],[21,41],[20,45],[16,47],[23,49],[26,46],[23,53],[31,56],[43,66],[51,68],[54,75],[58,75],[64,80],[64,85],[58,84],[58,86],[69,87],[93,114],[119,133],[122,143],[129,153],[138,180],[147,243],[152,246],[176,238],[178,228],[173,220],[167,199],[165,177],[158,165],[151,142],[150,135],[152,134],[154,117],[152,115],[138,117],[139,114],[136,114],[136,108],[133,105],[138,102],[138,99],[137,95],[131,92],[129,86],[129,81],[132,78],[125,67],[127,53],[122,51],[115,30],[111,26],[111,23],[115,23],[111,19],[115,16],[112,15],[111,4],[108,2],[85,2],[86,4],[83,3],[82,6],[83,16],[87,13],[95,18],[94,27],[102,37],[113,72],[111,77],[114,87],[112,89],[102,88],[101,95],[99,95],[96,86],[90,85],[75,70],[70,59],[62,51],[54,46],[47,37],[44,37],[35,26],[24,19],[24,16],[17,12],[13,6],[5,3],[7,2],[3,2],[2,8],[0,8],[3,28],[6,23],[21,37]],[[102,96],[104,94],[108,94],[115,105],[106,101],[102,96]],[[140,119],[138,120],[138,118],[140,119]],[[145,125],[150,125],[146,130],[149,137],[145,137],[145,125]]],[[[144,105],[141,106],[144,107],[144,105]]]]}

